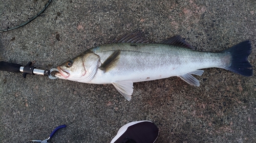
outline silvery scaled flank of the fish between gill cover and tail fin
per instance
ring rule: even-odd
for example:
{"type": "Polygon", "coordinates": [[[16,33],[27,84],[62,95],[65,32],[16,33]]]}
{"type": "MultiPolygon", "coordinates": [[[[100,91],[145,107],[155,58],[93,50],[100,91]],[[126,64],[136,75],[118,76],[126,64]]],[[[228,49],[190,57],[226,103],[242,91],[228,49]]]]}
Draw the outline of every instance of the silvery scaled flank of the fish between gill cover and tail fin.
{"type": "Polygon", "coordinates": [[[105,78],[109,83],[115,80],[131,80],[140,82],[146,80],[155,80],[170,76],[179,76],[184,73],[192,72],[197,69],[218,67],[222,68],[225,64],[222,59],[228,56],[226,53],[210,53],[193,51],[187,48],[175,48],[172,45],[165,44],[137,44],[139,48],[129,46],[130,43],[115,43],[111,45],[102,45],[94,51],[95,54],[102,57],[103,63],[113,51],[122,48],[120,59],[115,69],[110,71],[110,76],[102,77],[102,73],[95,74],[91,83],[96,83],[98,78],[105,78]],[[145,50],[146,49],[146,50],[145,50]],[[113,51],[112,51],[113,50],[113,51]],[[179,51],[179,52],[177,52],[179,51]],[[125,77],[114,76],[120,74],[125,77]],[[161,77],[160,77],[161,75],[161,77]],[[132,78],[133,77],[133,78],[132,78]]]}

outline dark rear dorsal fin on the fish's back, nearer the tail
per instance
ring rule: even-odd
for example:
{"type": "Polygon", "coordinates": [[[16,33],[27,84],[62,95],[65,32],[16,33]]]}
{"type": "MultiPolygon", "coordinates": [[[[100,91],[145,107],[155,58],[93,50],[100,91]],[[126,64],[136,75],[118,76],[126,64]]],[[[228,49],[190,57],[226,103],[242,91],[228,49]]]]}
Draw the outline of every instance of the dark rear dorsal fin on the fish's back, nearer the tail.
{"type": "Polygon", "coordinates": [[[188,49],[195,50],[194,47],[190,46],[180,35],[173,36],[169,39],[166,39],[161,42],[162,44],[170,44],[170,45],[176,45],[176,46],[181,46],[185,47],[188,49]]]}

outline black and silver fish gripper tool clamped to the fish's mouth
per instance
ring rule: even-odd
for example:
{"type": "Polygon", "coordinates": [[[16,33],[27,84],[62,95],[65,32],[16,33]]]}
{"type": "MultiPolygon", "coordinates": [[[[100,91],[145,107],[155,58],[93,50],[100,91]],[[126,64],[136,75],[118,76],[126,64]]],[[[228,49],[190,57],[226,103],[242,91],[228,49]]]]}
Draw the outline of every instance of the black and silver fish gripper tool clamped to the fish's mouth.
{"type": "Polygon", "coordinates": [[[31,66],[32,62],[29,62],[26,66],[8,63],[1,61],[0,62],[0,71],[9,71],[13,73],[23,72],[23,77],[26,78],[27,74],[31,75],[47,75],[50,79],[56,79],[58,77],[52,76],[53,71],[58,71],[58,69],[52,68],[51,70],[40,70],[36,67],[31,66]]]}

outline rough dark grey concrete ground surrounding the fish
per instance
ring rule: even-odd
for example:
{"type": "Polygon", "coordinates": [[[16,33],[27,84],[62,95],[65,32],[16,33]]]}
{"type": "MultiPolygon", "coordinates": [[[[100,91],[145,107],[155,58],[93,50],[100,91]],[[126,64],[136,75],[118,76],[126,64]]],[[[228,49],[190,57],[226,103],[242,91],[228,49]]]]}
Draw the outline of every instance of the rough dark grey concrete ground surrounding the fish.
{"type": "MultiPolygon", "coordinates": [[[[24,5],[42,3],[31,2],[24,5]]],[[[256,66],[254,0],[53,0],[25,27],[0,33],[0,61],[56,68],[88,48],[135,30],[155,42],[178,34],[202,51],[250,40],[249,61],[256,66]]],[[[67,127],[51,142],[110,142],[122,125],[138,120],[158,126],[156,143],[256,142],[255,72],[244,77],[210,68],[196,78],[200,87],[178,77],[134,83],[129,102],[113,85],[39,75],[24,79],[22,73],[0,71],[0,142],[45,139],[62,124],[67,127]]]]}

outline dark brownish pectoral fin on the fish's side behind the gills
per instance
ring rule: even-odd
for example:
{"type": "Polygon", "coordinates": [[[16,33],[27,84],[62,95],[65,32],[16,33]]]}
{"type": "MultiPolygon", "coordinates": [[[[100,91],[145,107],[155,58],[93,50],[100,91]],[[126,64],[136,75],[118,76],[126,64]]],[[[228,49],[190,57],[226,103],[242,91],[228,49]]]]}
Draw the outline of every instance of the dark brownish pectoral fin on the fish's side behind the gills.
{"type": "Polygon", "coordinates": [[[100,70],[103,70],[104,73],[108,72],[111,68],[116,66],[117,61],[119,60],[119,54],[121,50],[114,51],[108,59],[106,59],[102,65],[99,67],[100,70]]]}

